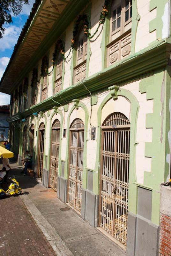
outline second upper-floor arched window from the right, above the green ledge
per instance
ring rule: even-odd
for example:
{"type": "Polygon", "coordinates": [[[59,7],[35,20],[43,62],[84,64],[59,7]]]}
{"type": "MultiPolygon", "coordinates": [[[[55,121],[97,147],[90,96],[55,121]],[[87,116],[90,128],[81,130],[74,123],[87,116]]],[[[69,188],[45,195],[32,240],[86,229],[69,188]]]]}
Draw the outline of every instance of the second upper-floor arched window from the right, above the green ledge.
{"type": "Polygon", "coordinates": [[[84,34],[84,28],[81,27],[77,38],[77,60],[74,68],[74,84],[81,81],[86,76],[86,58],[87,58],[87,36],[84,34]]]}

